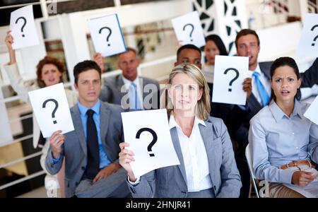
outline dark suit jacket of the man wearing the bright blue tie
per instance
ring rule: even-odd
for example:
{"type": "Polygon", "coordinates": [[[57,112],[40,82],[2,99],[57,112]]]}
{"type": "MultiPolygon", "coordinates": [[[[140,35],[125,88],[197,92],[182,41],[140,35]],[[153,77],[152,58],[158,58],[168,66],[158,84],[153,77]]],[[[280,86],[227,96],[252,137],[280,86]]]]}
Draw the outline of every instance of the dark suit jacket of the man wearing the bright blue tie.
{"type": "MultiPolygon", "coordinates": [[[[259,63],[259,68],[269,81],[271,78],[271,64],[271,61],[259,63]]],[[[300,73],[300,78],[302,78],[302,88],[312,87],[314,84],[318,83],[318,58],[309,69],[304,73],[300,73]]],[[[263,106],[257,101],[257,98],[251,94],[249,98],[247,98],[247,111],[243,111],[240,107],[237,107],[237,105],[232,109],[228,121],[230,126],[228,126],[228,128],[238,145],[236,154],[243,158],[245,157],[245,148],[248,143],[249,120],[252,119],[262,107],[263,106]]]]}

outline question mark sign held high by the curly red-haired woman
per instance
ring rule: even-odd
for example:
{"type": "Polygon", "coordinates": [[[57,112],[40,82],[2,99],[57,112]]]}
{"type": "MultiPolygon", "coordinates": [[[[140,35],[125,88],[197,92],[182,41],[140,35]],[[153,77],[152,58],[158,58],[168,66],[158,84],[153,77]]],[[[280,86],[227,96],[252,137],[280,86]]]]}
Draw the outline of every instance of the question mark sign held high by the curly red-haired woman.
{"type": "Polygon", "coordinates": [[[11,13],[10,30],[14,39],[13,49],[39,45],[32,5],[24,6],[11,13]]]}

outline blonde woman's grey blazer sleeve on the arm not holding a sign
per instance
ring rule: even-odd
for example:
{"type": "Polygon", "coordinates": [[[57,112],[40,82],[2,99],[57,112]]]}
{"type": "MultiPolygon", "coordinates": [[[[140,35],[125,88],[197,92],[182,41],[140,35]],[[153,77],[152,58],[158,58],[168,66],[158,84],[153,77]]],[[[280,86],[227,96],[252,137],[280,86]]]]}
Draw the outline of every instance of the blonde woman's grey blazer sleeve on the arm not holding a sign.
{"type": "Polygon", "coordinates": [[[220,167],[221,187],[216,197],[239,197],[242,187],[240,172],[235,163],[232,141],[221,119],[216,123],[222,143],[222,165],[220,167]]]}

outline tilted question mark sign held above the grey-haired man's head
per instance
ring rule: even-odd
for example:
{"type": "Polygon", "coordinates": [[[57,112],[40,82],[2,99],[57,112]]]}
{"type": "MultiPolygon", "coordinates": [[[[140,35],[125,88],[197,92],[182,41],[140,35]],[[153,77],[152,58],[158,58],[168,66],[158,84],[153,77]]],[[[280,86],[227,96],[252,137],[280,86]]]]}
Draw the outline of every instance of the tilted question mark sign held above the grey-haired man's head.
{"type": "Polygon", "coordinates": [[[117,14],[87,20],[96,52],[103,57],[126,51],[117,14]]]}

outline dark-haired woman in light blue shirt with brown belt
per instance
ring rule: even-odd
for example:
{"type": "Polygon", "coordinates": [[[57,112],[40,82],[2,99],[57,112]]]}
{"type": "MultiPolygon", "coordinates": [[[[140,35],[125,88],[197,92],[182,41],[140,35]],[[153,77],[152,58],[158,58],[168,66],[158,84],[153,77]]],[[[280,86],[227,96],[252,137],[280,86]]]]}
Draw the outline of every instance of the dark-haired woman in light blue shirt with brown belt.
{"type": "Polygon", "coordinates": [[[283,184],[305,187],[318,177],[318,126],[304,117],[300,73],[290,57],[271,66],[271,102],[250,122],[254,175],[270,182],[270,197],[304,197],[283,184]]]}

